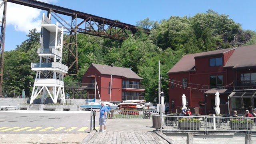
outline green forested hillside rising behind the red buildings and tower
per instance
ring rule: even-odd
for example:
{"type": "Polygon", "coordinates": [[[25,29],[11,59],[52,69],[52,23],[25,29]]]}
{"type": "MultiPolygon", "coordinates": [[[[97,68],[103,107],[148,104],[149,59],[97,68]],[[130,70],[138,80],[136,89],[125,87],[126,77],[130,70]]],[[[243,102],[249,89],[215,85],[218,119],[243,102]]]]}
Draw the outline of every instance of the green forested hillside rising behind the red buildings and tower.
{"type": "MultiPolygon", "coordinates": [[[[227,15],[212,10],[193,17],[171,16],[160,22],[146,18],[137,22],[137,26],[140,30],[124,41],[79,33],[79,73],[77,76],[66,76],[65,81],[81,82],[82,75],[92,63],[132,68],[144,78],[142,84],[145,85],[146,100],[151,101],[158,93],[158,60],[161,76],[168,78],[166,73],[185,54],[256,44],[254,31],[243,30],[240,24],[227,15]],[[149,35],[145,34],[144,28],[150,29],[149,35]]],[[[30,65],[31,62],[39,62],[38,31],[32,29],[28,40],[15,50],[5,52],[3,92],[14,92],[15,89],[17,94],[21,94],[24,89],[29,95],[32,89],[29,82],[35,78],[30,65]]],[[[67,53],[68,50],[64,49],[64,64],[67,62],[67,53]]],[[[168,82],[163,81],[162,88],[168,96],[168,82]]]]}

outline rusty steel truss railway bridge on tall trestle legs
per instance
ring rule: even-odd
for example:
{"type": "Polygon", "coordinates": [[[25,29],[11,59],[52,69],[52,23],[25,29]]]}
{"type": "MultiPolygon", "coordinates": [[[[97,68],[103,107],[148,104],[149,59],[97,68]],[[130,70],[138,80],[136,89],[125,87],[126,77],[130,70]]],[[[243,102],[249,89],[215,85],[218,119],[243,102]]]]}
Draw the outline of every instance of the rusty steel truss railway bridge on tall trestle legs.
{"type": "Polygon", "coordinates": [[[111,38],[116,40],[124,40],[128,38],[128,35],[135,34],[138,30],[136,26],[126,24],[123,22],[94,16],[84,12],[39,2],[36,0],[2,0],[0,7],[4,6],[3,18],[1,23],[0,33],[0,95],[2,95],[2,81],[3,81],[3,69],[4,69],[4,39],[5,39],[5,28],[6,28],[6,9],[7,2],[20,4],[23,6],[29,6],[32,8],[38,8],[47,11],[48,18],[54,18],[61,24],[67,32],[67,36],[63,40],[64,48],[68,49],[68,62],[67,66],[69,70],[71,67],[75,67],[76,71],[70,74],[76,75],[78,73],[78,50],[77,50],[77,33],[90,34],[93,36],[100,36],[104,38],[111,38]],[[61,15],[70,16],[71,24],[66,22],[61,15]]]}

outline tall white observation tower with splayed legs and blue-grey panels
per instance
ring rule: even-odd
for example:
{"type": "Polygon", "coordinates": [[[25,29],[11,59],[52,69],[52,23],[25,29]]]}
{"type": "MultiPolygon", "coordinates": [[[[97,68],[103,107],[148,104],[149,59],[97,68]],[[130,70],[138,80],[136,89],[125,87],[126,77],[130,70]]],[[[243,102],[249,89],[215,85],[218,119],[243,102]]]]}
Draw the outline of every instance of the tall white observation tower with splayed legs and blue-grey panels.
{"type": "MultiPolygon", "coordinates": [[[[49,16],[50,17],[50,16],[49,16]]],[[[64,74],[68,66],[62,64],[63,27],[58,23],[51,24],[50,18],[42,17],[39,63],[31,63],[31,69],[36,71],[36,78],[30,99],[30,104],[40,96],[41,104],[46,98],[52,98],[54,104],[60,98],[65,104],[64,74]]]]}

